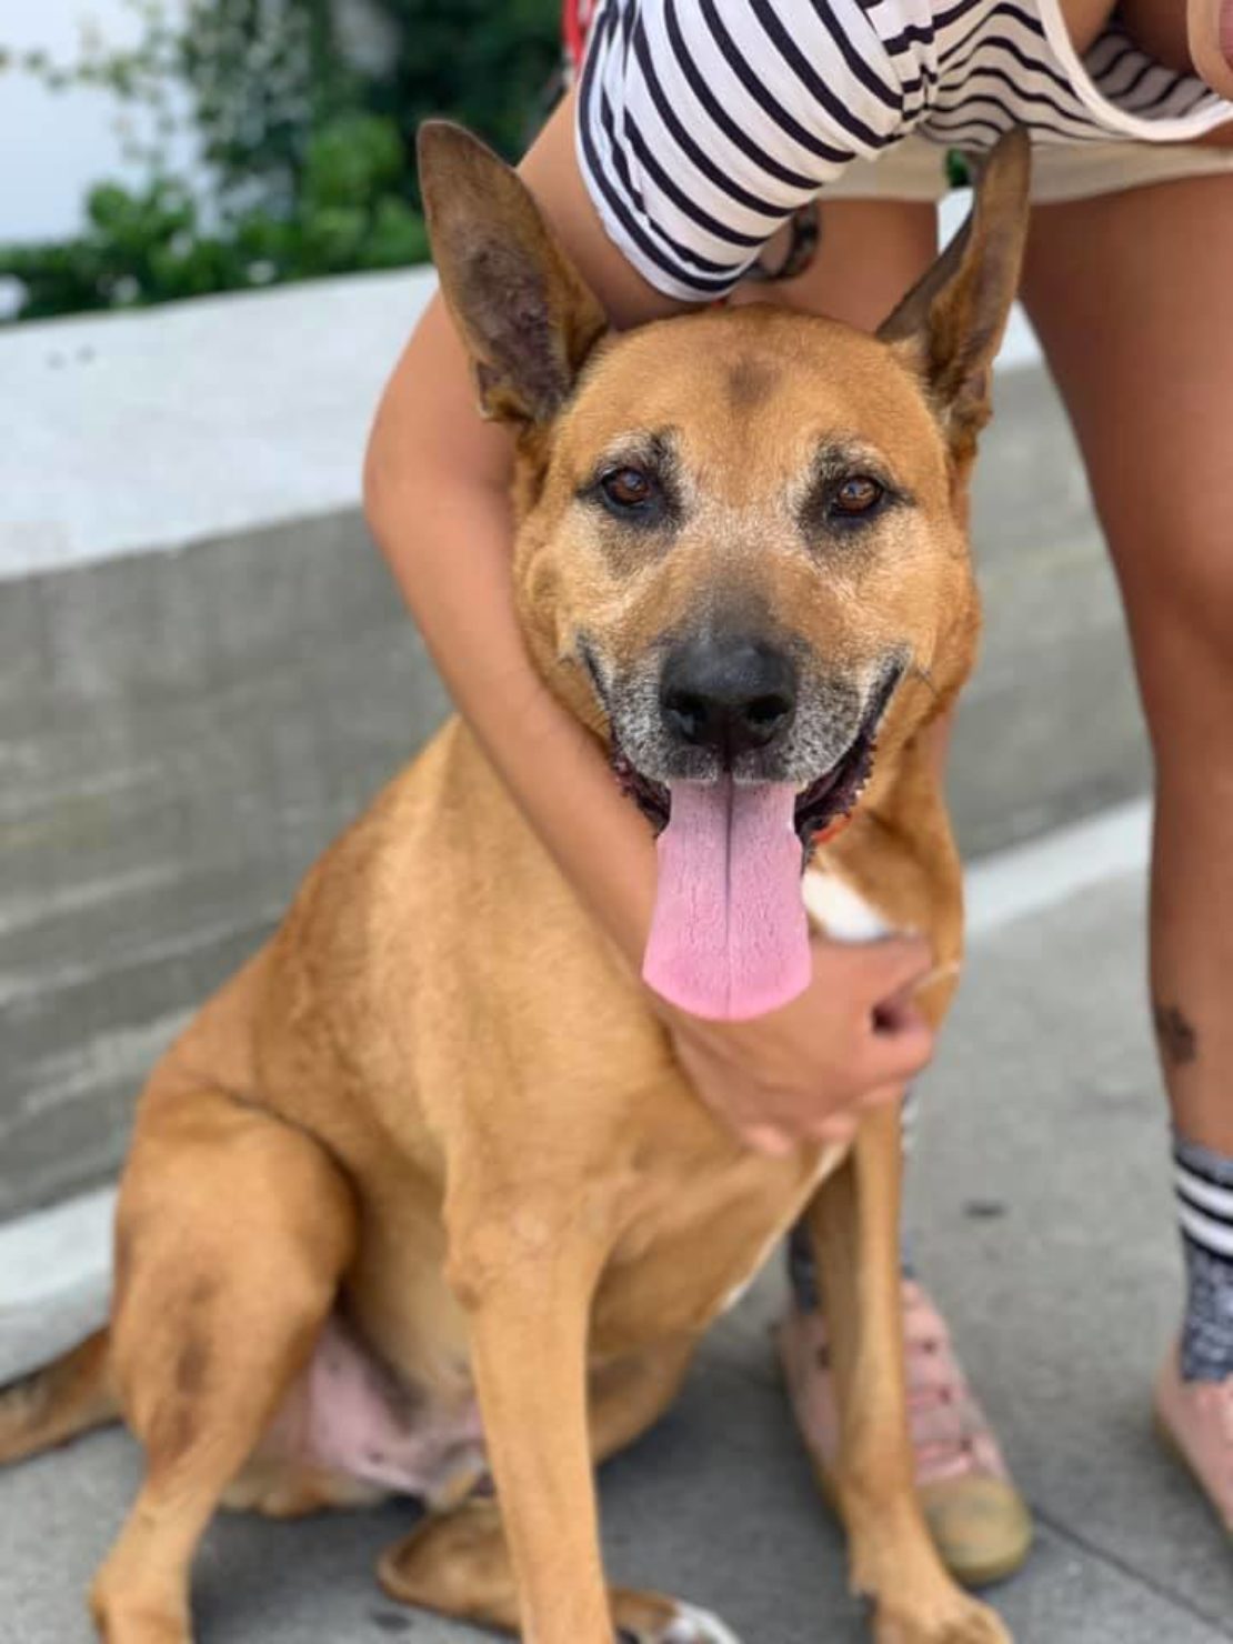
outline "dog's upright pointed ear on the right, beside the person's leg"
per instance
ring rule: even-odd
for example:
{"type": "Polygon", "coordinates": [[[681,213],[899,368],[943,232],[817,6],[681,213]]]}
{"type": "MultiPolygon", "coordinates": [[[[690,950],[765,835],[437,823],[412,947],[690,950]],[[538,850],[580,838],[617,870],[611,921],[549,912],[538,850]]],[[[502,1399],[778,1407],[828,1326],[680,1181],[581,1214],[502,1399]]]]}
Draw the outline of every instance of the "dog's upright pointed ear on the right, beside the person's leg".
{"type": "Polygon", "coordinates": [[[1031,145],[1008,132],[981,166],[972,214],[878,330],[926,385],[958,460],[990,418],[990,375],[1019,284],[1031,145]]]}

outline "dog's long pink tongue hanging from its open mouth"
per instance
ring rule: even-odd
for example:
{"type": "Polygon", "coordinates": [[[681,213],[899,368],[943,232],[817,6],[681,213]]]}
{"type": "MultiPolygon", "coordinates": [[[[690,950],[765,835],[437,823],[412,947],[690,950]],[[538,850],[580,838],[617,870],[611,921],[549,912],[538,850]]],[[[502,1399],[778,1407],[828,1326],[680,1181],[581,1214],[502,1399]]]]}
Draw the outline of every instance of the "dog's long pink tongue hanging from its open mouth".
{"type": "Polygon", "coordinates": [[[643,980],[694,1016],[740,1021],[809,981],[796,792],[672,783],[643,980]]]}

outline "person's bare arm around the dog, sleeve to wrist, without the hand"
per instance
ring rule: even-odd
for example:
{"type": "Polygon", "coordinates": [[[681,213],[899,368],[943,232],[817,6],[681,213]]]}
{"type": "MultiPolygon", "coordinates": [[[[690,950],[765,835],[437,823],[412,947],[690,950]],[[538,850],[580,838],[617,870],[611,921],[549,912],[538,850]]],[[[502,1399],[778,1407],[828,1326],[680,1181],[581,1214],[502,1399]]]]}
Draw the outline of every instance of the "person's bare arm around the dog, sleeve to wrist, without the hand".
{"type": "MultiPolygon", "coordinates": [[[[674,304],[608,245],[570,158],[561,110],[523,174],[579,268],[618,324],[671,312],[674,304]]],[[[593,738],[557,705],[526,654],[513,615],[511,452],[508,429],[478,414],[462,344],[437,296],[376,414],[365,467],[368,521],[459,712],[566,876],[638,963],[654,847],[593,738]]]]}

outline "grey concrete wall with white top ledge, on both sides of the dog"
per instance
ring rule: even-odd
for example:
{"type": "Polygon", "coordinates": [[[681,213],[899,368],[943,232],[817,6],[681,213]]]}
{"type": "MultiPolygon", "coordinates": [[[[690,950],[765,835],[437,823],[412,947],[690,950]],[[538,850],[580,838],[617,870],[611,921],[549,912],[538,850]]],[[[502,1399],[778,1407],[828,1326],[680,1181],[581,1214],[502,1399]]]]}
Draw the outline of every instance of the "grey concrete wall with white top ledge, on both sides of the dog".
{"type": "MultiPolygon", "coordinates": [[[[444,712],[358,515],[423,276],[0,337],[0,1217],[109,1174],[145,1070],[444,712]]],[[[1000,376],[968,853],[1143,791],[1116,597],[1039,370],[1000,376]]]]}

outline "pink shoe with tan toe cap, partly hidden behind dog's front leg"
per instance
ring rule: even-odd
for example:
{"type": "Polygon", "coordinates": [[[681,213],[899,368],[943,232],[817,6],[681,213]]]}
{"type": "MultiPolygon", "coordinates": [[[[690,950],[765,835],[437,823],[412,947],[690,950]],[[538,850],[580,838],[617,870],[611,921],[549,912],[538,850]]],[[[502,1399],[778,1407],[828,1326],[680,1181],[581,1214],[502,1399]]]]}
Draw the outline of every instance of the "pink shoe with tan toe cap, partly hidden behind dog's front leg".
{"type": "MultiPolygon", "coordinates": [[[[903,1307],[916,1483],[934,1545],[965,1586],[1001,1582],[1028,1557],[1031,1514],[955,1358],[950,1332],[914,1279],[903,1281],[903,1307]]],[[[820,1309],[802,1305],[799,1284],[779,1327],[779,1356],[806,1448],[834,1499],[838,1415],[827,1330],[820,1309]]]]}

